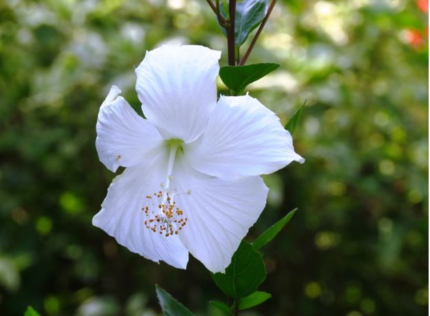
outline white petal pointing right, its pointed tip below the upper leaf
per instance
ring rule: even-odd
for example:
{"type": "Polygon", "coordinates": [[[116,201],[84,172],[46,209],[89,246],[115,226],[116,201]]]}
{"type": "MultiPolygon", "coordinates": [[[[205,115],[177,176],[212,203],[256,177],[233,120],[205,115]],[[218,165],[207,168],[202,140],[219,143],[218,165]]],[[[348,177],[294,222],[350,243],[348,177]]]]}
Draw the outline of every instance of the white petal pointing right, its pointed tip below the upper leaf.
{"type": "Polygon", "coordinates": [[[219,98],[201,139],[184,150],[194,168],[222,178],[270,174],[305,161],[277,115],[249,95],[219,98]]]}

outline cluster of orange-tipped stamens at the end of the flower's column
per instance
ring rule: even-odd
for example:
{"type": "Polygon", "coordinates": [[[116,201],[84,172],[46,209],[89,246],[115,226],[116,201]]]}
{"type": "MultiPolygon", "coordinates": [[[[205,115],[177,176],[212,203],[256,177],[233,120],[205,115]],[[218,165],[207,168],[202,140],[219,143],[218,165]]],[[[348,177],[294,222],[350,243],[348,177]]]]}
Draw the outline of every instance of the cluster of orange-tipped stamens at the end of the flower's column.
{"type": "Polygon", "coordinates": [[[165,237],[178,235],[188,218],[173,198],[178,194],[191,194],[191,191],[170,194],[164,185],[161,185],[161,188],[164,192],[158,191],[145,196],[147,205],[142,207],[146,216],[144,227],[165,237]]]}

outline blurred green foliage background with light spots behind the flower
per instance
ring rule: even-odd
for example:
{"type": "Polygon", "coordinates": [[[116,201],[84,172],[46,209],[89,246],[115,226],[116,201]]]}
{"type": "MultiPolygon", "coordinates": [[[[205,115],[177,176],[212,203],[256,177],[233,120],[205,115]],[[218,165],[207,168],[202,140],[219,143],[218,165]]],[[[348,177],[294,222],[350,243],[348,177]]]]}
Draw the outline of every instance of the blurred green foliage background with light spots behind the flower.
{"type": "MultiPolygon", "coordinates": [[[[427,10],[278,1],[248,63],[281,67],[250,94],[283,122],[308,100],[294,133],[307,160],[265,177],[247,239],[299,212],[264,248],[272,299],[243,315],[427,315],[427,10]]],[[[0,315],[160,315],[155,283],[219,315],[200,262],[155,264],[91,224],[114,177],[94,146],[98,108],[116,84],[140,111],[133,69],[167,41],[226,65],[204,0],[0,1],[0,315]]]]}

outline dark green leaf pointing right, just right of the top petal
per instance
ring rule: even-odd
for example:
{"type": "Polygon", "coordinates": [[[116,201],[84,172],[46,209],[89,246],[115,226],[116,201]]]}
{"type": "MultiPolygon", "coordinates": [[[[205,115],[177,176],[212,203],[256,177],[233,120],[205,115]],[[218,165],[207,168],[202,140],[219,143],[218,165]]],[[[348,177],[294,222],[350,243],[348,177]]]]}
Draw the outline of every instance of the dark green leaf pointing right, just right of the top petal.
{"type": "Polygon", "coordinates": [[[251,82],[263,78],[279,67],[275,63],[261,63],[246,66],[224,66],[219,69],[219,77],[228,89],[237,95],[251,82]]]}

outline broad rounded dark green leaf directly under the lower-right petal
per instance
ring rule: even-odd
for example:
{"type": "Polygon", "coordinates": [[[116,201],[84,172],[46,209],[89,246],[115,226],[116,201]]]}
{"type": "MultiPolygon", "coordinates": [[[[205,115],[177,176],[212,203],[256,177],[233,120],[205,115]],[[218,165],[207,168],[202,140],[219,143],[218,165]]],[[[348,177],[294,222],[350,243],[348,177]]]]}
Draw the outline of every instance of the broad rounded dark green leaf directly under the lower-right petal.
{"type": "Polygon", "coordinates": [[[257,290],[266,279],[266,266],[261,253],[242,240],[226,273],[211,273],[211,276],[221,291],[237,299],[257,290]]]}

